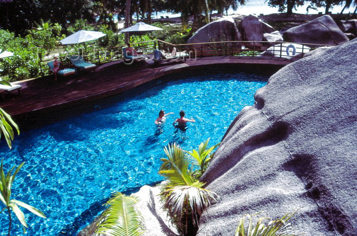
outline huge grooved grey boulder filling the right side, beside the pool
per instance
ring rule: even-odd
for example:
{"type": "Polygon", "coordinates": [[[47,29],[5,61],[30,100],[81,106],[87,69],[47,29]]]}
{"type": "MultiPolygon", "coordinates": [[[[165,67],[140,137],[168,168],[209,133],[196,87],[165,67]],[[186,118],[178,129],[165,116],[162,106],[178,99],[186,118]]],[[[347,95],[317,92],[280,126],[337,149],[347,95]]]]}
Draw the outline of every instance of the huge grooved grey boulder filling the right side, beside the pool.
{"type": "Polygon", "coordinates": [[[307,235],[357,231],[357,39],[274,74],[228,128],[202,178],[222,201],[198,235],[234,235],[244,214],[307,235]]]}

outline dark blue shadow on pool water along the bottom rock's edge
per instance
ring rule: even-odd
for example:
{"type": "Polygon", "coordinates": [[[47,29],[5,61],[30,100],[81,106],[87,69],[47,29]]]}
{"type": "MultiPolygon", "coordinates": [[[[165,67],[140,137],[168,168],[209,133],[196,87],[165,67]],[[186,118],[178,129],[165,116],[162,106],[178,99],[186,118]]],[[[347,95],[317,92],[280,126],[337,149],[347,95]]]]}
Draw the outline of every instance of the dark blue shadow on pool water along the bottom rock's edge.
{"type": "MultiPolygon", "coordinates": [[[[155,182],[155,183],[151,183],[151,184],[146,184],[149,186],[155,186],[158,183],[160,183],[161,181],[155,182]]],[[[126,191],[122,191],[122,194],[125,194],[127,196],[131,195],[132,193],[136,193],[140,190],[140,187],[132,187],[132,188],[128,188],[126,191]]],[[[94,202],[90,205],[90,207],[83,211],[83,213],[74,218],[74,221],[66,226],[64,226],[60,232],[57,234],[58,236],[75,236],[79,233],[79,230],[82,227],[85,227],[87,225],[89,225],[94,218],[101,212],[103,211],[106,207],[103,205],[104,203],[106,203],[109,200],[109,198],[94,202]]]]}

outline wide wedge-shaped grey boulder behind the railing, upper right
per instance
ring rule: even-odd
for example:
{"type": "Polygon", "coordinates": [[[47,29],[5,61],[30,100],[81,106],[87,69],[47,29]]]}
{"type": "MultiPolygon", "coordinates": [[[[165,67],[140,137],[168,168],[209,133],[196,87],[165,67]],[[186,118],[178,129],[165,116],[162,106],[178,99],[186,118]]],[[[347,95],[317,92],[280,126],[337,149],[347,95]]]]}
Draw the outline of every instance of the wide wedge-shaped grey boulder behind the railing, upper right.
{"type": "Polygon", "coordinates": [[[284,32],[283,38],[287,42],[325,45],[340,45],[349,40],[329,15],[293,27],[284,32]]]}

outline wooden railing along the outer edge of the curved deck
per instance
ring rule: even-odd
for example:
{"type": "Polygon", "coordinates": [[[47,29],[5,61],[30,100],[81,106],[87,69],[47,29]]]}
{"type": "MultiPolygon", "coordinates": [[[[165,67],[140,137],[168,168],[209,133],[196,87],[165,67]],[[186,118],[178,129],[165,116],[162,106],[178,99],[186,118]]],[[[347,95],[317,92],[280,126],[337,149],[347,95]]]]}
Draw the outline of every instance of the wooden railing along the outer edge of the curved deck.
{"type": "MultiPolygon", "coordinates": [[[[155,49],[164,50],[165,52],[171,52],[175,47],[177,52],[186,51],[189,53],[190,59],[199,57],[210,56],[239,56],[242,58],[250,57],[262,57],[264,59],[290,59],[290,58],[302,58],[306,52],[319,48],[320,46],[331,46],[323,44],[312,43],[293,43],[293,42],[266,42],[266,41],[222,41],[222,42],[203,42],[203,43],[186,43],[186,44],[172,44],[159,39],[132,43],[136,50],[145,53],[146,55],[152,55],[155,49]],[[292,44],[293,46],[290,46],[292,44]],[[287,46],[289,47],[286,53],[287,46]],[[291,52],[293,51],[293,52],[291,52]],[[265,55],[262,53],[265,52],[265,55]],[[291,54],[290,54],[291,52],[291,54]],[[294,53],[295,52],[295,53],[294,53]]],[[[126,45],[118,45],[113,48],[106,48],[93,51],[79,52],[83,55],[84,59],[88,62],[96,65],[117,61],[122,59],[122,48],[126,45]]],[[[78,53],[77,53],[78,55],[78,53]]],[[[61,54],[59,60],[62,61],[64,66],[71,67],[69,56],[61,54]]],[[[41,69],[41,75],[48,75],[50,70],[47,66],[47,62],[53,59],[40,60],[39,65],[41,69]]]]}

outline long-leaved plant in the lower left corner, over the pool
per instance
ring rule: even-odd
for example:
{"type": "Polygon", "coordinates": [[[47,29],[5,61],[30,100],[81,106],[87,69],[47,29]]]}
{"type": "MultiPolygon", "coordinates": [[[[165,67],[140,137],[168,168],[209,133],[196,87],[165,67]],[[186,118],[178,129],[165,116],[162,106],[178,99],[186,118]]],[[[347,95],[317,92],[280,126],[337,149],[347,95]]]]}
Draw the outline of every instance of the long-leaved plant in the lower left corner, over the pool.
{"type": "MultiPolygon", "coordinates": [[[[9,213],[9,234],[8,235],[10,236],[11,223],[12,223],[10,209],[12,211],[14,211],[17,219],[20,221],[20,223],[23,225],[23,227],[26,227],[26,228],[28,227],[28,225],[25,221],[25,217],[24,217],[22,211],[20,210],[20,208],[18,206],[22,206],[22,207],[28,209],[36,216],[39,216],[42,218],[46,218],[46,217],[40,210],[36,209],[33,206],[30,206],[26,203],[17,201],[15,199],[10,200],[12,182],[14,181],[16,174],[19,172],[20,168],[23,166],[23,164],[25,162],[22,162],[20,164],[20,166],[17,167],[17,169],[15,170],[13,175],[11,175],[11,172],[14,170],[15,166],[13,166],[11,168],[11,170],[8,172],[8,174],[5,176],[4,169],[3,169],[3,161],[4,160],[1,161],[1,166],[0,166],[0,200],[6,206],[4,209],[2,209],[2,211],[7,209],[8,213],[9,213]]],[[[0,213],[2,211],[0,211],[0,213]]],[[[25,231],[25,228],[23,228],[23,231],[25,231]]]]}

